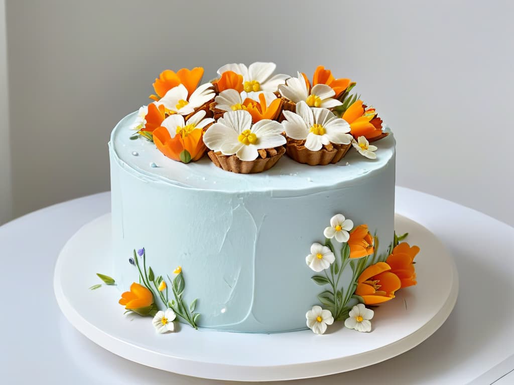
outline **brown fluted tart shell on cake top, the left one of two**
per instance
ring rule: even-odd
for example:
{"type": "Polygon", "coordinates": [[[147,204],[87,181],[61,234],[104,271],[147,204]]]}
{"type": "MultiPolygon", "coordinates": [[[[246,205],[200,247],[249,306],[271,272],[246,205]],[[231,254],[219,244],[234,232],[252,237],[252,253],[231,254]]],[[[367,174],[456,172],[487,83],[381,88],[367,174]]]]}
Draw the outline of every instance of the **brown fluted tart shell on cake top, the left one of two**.
{"type": "Polygon", "coordinates": [[[252,161],[242,161],[236,155],[223,155],[221,152],[209,151],[207,155],[212,163],[225,171],[236,174],[256,174],[269,170],[284,155],[284,146],[259,150],[259,157],[252,161]]]}

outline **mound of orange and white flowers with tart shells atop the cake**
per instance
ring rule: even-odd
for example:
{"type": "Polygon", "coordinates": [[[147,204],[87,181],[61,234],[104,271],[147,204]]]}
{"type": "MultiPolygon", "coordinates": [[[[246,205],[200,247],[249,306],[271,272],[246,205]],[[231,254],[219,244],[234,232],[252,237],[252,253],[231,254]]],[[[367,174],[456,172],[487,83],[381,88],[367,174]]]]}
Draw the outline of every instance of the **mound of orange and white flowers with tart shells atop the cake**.
{"type": "Polygon", "coordinates": [[[388,133],[375,109],[351,94],[355,82],[323,66],[312,81],[275,70],[273,63],[226,64],[207,83],[201,67],[163,71],[132,128],[168,158],[189,163],[208,151],[213,163],[234,172],[263,171],[284,152],[310,165],[336,163],[352,146],[376,158],[370,142],[388,133]]]}

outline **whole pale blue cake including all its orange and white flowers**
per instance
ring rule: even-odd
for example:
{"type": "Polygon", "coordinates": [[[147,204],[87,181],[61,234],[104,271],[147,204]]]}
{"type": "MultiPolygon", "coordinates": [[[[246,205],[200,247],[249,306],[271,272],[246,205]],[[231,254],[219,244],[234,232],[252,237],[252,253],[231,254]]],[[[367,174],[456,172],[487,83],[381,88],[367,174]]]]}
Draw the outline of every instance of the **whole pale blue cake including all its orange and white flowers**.
{"type": "Polygon", "coordinates": [[[371,331],[372,306],[416,283],[391,130],[349,79],[274,69],[164,71],[112,131],[116,281],[99,277],[159,332],[371,331]]]}

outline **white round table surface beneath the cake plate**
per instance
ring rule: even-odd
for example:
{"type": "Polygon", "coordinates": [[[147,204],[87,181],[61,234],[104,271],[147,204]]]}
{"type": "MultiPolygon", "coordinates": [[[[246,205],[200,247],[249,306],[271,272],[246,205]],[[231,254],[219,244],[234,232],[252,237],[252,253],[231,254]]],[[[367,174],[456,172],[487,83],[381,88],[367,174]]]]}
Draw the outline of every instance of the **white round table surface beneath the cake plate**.
{"type": "MultiPolygon", "coordinates": [[[[396,198],[397,213],[430,229],[454,255],[460,279],[455,309],[442,328],[411,351],[316,383],[514,383],[514,228],[407,188],[397,187],[396,198]]],[[[52,287],[56,258],[83,224],[109,209],[109,194],[104,192],[35,211],[0,227],[2,383],[223,383],[115,356],[83,337],[61,314],[52,287]]],[[[94,253],[94,240],[90,247],[94,253]]]]}

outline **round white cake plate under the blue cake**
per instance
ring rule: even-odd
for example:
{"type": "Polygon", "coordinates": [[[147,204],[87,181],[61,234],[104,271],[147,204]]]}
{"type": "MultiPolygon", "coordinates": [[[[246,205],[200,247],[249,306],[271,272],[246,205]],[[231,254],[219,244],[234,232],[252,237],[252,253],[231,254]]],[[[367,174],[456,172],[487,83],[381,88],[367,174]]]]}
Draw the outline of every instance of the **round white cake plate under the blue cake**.
{"type": "MultiPolygon", "coordinates": [[[[66,243],[57,260],[54,292],[62,312],[79,332],[112,353],[149,367],[236,381],[341,373],[414,348],[445,322],[455,305],[457,271],[442,243],[406,217],[396,215],[395,228],[397,234],[408,232],[407,241],[421,248],[415,265],[418,284],[375,308],[371,333],[346,329],[343,322],[329,326],[324,335],[310,330],[275,334],[194,330],[175,322],[176,332],[158,334],[150,318],[123,316],[118,299],[125,287],[103,285],[88,290],[100,283],[96,273],[113,276],[111,214],[86,224],[66,243]]],[[[298,263],[305,263],[304,256],[299,256],[298,263]]],[[[305,305],[305,311],[310,305],[305,305]]]]}

